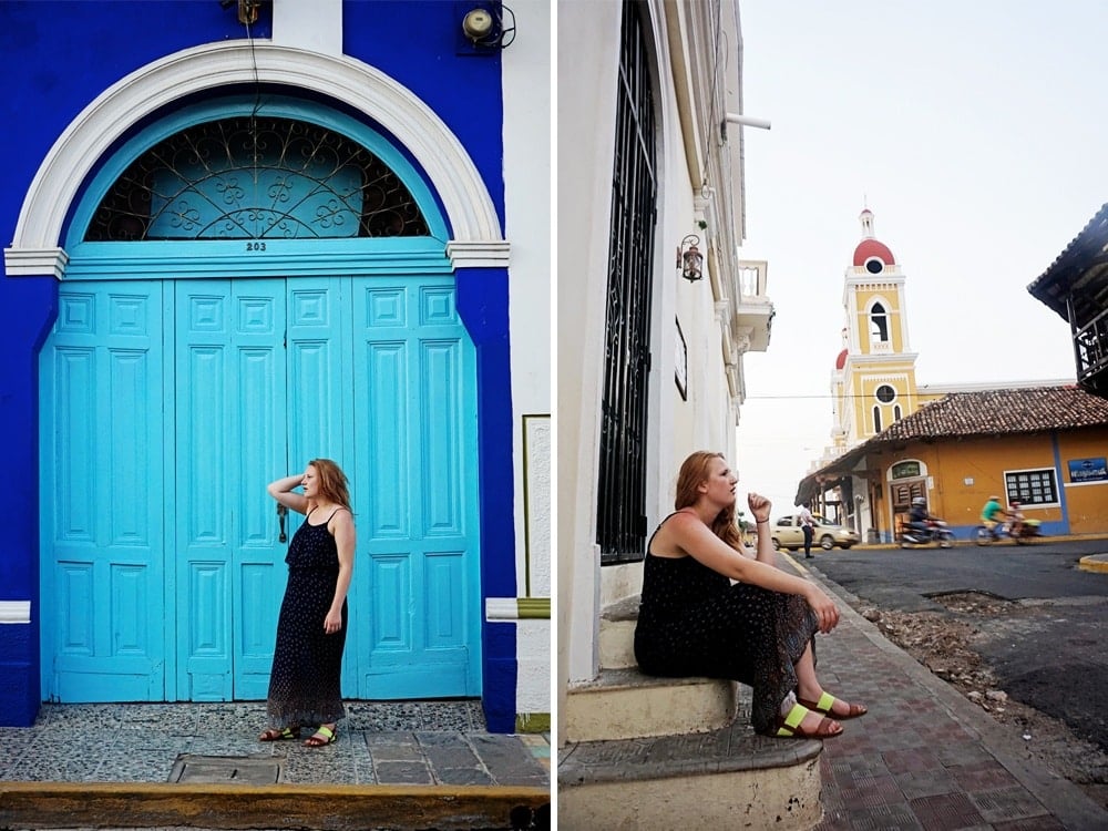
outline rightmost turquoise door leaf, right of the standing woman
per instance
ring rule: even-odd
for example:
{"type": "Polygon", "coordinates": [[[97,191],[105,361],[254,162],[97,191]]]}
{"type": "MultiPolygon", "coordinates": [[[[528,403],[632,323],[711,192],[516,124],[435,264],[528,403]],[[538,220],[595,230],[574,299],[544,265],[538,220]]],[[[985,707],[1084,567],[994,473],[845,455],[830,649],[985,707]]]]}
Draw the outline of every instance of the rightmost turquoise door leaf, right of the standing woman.
{"type": "Polygon", "coordinates": [[[472,347],[450,280],[355,294],[357,484],[368,494],[355,570],[370,598],[358,695],[480,691],[472,347]]]}

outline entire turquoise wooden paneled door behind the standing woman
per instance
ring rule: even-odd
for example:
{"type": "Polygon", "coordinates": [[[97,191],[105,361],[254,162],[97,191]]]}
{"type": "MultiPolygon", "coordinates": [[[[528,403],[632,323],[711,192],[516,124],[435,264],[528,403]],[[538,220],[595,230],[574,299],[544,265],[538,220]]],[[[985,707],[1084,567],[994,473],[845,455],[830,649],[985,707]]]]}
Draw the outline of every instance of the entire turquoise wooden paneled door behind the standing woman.
{"type": "Polygon", "coordinates": [[[473,375],[450,277],[64,284],[40,365],[43,696],[265,698],[302,521],[265,485],[320,456],[358,532],[345,696],[480,695],[473,375]]]}

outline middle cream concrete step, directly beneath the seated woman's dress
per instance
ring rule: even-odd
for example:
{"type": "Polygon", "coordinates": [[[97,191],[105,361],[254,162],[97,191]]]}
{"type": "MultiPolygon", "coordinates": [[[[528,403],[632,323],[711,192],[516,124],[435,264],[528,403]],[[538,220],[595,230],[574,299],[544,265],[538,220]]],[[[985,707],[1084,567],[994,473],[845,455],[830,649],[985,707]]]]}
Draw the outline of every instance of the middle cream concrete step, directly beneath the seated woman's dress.
{"type": "Polygon", "coordinates": [[[602,669],[595,680],[570,688],[565,738],[602,741],[718,730],[735,720],[739,686],[714,678],[656,678],[637,669],[602,669]]]}

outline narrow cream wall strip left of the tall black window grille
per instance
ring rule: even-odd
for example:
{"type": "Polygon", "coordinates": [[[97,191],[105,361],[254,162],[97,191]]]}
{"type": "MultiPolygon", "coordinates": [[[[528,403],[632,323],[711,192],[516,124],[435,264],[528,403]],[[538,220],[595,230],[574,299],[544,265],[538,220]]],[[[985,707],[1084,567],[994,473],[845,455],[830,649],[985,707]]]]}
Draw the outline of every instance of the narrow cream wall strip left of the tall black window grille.
{"type": "MultiPolygon", "coordinates": [[[[558,694],[593,676],[599,609],[596,475],[604,360],[619,3],[557,14],[558,694]]],[[[560,707],[558,712],[565,708],[560,707]]],[[[564,735],[564,730],[558,730],[564,735]]]]}

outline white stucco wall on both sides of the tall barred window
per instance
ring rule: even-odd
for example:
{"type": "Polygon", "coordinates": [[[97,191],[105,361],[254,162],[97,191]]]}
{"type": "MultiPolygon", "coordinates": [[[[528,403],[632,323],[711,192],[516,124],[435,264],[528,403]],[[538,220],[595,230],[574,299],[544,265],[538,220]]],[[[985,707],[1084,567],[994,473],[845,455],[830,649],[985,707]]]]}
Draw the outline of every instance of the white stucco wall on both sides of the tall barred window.
{"type": "MultiPolygon", "coordinates": [[[[725,3],[729,9],[730,3],[725,3]]],[[[701,448],[731,452],[733,413],[724,373],[720,324],[709,280],[681,280],[675,249],[697,226],[700,182],[694,181],[681,132],[666,12],[689,7],[649,0],[654,32],[658,217],[654,248],[652,373],[647,437],[647,514],[669,513],[677,468],[701,448]],[[676,326],[688,345],[689,398],[675,372],[676,326]]],[[[691,13],[702,13],[691,7],[691,13]]],[[[726,11],[726,10],[725,10],[726,11]]],[[[599,567],[596,479],[603,396],[605,298],[611,223],[616,84],[623,7],[558,6],[557,165],[557,695],[597,671],[604,602],[635,594],[642,566],[599,567]]],[[[678,37],[678,42],[680,38],[678,37]]],[[[731,41],[733,43],[733,40],[731,41]]],[[[708,65],[711,65],[709,62],[708,65]]],[[[732,64],[733,65],[733,64],[732,64]]],[[[709,131],[710,133],[711,131],[709,131]]],[[[702,244],[701,249],[706,246],[702,244]]],[[[706,264],[707,266],[707,264],[706,264]]],[[[560,706],[558,710],[564,711],[560,706]]],[[[564,732],[560,729],[560,732],[564,732]]]]}

